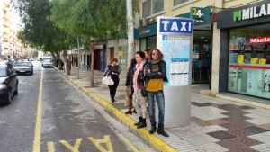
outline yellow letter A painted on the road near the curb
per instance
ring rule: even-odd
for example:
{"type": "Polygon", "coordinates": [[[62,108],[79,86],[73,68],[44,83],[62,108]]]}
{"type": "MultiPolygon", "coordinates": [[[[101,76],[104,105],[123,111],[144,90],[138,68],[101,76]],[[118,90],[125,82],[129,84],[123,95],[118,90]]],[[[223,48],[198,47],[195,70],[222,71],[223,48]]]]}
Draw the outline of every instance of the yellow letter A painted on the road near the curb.
{"type": "Polygon", "coordinates": [[[94,138],[88,138],[96,148],[98,148],[102,152],[113,152],[112,148],[112,142],[110,139],[110,135],[105,135],[104,139],[94,139],[94,138]],[[101,146],[102,143],[106,144],[107,150],[101,146]]]}

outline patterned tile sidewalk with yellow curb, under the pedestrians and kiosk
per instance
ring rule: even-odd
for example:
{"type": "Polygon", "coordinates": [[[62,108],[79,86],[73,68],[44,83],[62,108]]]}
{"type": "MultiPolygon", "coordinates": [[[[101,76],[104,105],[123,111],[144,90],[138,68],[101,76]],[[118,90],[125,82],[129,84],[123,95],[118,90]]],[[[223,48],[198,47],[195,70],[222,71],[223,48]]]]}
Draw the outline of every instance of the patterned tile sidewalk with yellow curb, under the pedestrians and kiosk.
{"type": "Polygon", "coordinates": [[[94,87],[90,87],[90,71],[80,70],[79,79],[76,72],[74,68],[67,76],[59,70],[62,76],[157,151],[270,151],[270,105],[263,104],[267,100],[229,93],[211,94],[208,85],[193,85],[190,125],[166,129],[170,137],[164,138],[157,133],[148,134],[149,120],[147,128],[138,130],[133,125],[138,116],[124,113],[127,111],[125,77],[120,78],[117,102],[112,104],[108,86],[101,83],[103,73],[94,71],[94,87]],[[255,100],[260,103],[252,102],[255,100]]]}

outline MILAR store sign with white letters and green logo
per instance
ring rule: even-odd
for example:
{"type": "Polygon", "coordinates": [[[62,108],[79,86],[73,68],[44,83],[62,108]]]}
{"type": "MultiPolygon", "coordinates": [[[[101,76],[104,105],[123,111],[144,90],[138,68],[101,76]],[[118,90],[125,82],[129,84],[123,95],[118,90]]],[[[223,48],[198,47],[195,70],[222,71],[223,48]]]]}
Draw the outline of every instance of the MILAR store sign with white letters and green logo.
{"type": "Polygon", "coordinates": [[[249,7],[243,10],[234,11],[233,21],[243,21],[261,16],[270,15],[270,3],[261,6],[249,7]]]}

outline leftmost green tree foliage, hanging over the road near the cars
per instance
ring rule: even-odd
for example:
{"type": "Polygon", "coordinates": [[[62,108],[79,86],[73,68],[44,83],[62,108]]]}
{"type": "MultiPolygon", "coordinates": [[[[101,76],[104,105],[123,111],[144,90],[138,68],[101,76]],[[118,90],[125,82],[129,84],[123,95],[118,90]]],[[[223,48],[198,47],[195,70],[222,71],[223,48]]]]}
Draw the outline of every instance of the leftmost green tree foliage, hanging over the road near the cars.
{"type": "Polygon", "coordinates": [[[19,39],[31,47],[50,52],[53,58],[68,48],[67,34],[49,21],[49,0],[12,0],[12,3],[19,10],[24,25],[19,39]]]}

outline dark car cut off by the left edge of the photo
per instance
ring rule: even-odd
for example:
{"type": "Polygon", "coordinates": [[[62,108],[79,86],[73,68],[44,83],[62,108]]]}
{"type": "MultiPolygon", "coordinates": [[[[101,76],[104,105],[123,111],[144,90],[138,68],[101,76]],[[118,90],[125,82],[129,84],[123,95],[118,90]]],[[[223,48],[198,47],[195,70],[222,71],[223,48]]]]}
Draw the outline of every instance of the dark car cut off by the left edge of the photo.
{"type": "Polygon", "coordinates": [[[10,63],[0,63],[0,103],[11,103],[12,97],[18,94],[19,80],[10,63]]]}

